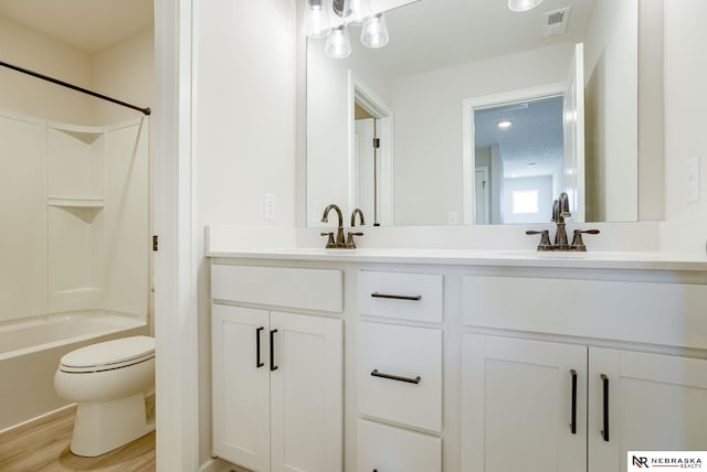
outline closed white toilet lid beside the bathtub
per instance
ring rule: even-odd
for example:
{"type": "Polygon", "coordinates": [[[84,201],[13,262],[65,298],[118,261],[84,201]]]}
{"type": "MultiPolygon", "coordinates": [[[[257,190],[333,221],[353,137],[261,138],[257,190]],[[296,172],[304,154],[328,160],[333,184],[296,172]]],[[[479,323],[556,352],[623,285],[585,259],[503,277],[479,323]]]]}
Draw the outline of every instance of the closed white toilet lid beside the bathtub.
{"type": "Polygon", "coordinates": [[[65,354],[63,372],[101,372],[127,367],[155,357],[155,337],[131,336],[92,344],[65,354]]]}

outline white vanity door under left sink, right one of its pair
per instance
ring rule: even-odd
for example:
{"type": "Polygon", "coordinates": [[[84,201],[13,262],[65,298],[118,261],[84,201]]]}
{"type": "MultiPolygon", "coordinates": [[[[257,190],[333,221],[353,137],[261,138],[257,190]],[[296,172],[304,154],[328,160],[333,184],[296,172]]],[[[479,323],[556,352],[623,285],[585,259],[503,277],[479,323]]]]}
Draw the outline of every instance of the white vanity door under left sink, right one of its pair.
{"type": "Polygon", "coordinates": [[[338,319],[271,313],[274,472],[341,470],[342,326],[338,319]]]}

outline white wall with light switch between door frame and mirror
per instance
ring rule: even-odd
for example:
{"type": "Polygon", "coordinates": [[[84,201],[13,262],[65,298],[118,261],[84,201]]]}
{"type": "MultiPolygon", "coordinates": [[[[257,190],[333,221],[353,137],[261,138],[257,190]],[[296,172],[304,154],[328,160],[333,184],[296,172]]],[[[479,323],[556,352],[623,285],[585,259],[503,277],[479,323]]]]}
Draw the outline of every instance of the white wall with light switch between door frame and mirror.
{"type": "Polygon", "coordinates": [[[204,225],[235,225],[240,240],[254,246],[262,243],[249,236],[253,226],[282,235],[295,226],[295,0],[193,4],[192,256],[199,272],[200,463],[211,454],[204,225]],[[263,219],[265,193],[276,196],[272,222],[263,219]]]}

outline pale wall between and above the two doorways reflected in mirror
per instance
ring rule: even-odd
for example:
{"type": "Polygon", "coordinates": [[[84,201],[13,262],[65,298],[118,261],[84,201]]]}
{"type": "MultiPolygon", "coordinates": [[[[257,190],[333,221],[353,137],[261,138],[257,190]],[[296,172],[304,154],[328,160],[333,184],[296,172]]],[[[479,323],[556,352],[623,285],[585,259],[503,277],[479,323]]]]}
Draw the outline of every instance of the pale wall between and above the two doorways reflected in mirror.
{"type": "Polygon", "coordinates": [[[395,225],[462,215],[463,99],[563,82],[572,51],[560,44],[394,81],[395,225]]]}

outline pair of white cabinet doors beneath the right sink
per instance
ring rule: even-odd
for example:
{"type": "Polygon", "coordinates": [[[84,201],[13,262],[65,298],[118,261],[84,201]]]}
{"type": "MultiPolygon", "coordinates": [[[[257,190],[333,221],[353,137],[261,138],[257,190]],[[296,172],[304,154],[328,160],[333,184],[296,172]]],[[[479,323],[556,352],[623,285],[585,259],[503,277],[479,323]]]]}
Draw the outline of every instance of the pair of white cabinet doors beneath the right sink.
{"type": "Polygon", "coordinates": [[[704,450],[707,361],[465,334],[465,471],[620,472],[626,451],[704,450]]]}

